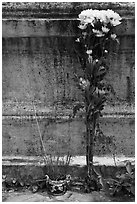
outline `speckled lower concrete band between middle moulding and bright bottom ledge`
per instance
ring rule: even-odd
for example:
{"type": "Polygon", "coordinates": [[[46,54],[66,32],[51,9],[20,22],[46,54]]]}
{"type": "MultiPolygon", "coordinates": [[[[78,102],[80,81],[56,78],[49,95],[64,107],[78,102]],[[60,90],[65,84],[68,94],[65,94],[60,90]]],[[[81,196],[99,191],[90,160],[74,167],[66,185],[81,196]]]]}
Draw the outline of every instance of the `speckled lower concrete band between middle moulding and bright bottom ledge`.
{"type": "MultiPolygon", "coordinates": [[[[101,129],[106,137],[95,146],[95,155],[135,155],[134,118],[102,118],[101,129]],[[108,136],[114,137],[107,144],[108,136]],[[113,145],[113,142],[116,146],[113,145]]],[[[85,155],[86,138],[83,119],[52,121],[39,119],[46,154],[85,155]]],[[[3,120],[3,156],[38,156],[43,153],[36,120],[3,120]]]]}

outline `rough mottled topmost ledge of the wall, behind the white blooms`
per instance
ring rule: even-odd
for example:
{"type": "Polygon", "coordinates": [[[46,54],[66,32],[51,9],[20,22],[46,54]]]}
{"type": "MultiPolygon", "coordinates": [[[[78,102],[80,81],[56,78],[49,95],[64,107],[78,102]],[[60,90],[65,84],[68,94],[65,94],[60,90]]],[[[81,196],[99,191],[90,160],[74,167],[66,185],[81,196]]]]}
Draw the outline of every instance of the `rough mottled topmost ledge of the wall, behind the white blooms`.
{"type": "Polygon", "coordinates": [[[3,2],[3,18],[77,17],[84,9],[112,9],[121,16],[134,16],[134,2],[3,2]]]}

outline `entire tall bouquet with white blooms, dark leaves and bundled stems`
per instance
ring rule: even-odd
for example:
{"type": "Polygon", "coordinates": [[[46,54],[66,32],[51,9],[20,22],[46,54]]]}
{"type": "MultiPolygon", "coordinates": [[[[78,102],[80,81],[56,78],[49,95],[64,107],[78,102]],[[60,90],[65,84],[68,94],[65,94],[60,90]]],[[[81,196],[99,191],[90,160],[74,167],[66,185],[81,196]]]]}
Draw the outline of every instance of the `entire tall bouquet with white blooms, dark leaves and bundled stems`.
{"type": "MultiPolygon", "coordinates": [[[[86,111],[86,161],[88,175],[92,175],[94,156],[94,139],[98,118],[102,115],[111,91],[106,83],[108,73],[107,57],[111,49],[110,43],[118,42],[114,27],[121,22],[119,14],[112,10],[84,10],[79,14],[81,34],[76,40],[76,52],[83,69],[83,76],[78,77],[79,86],[83,91],[84,107],[86,111]]],[[[75,107],[76,113],[81,107],[75,107]]]]}

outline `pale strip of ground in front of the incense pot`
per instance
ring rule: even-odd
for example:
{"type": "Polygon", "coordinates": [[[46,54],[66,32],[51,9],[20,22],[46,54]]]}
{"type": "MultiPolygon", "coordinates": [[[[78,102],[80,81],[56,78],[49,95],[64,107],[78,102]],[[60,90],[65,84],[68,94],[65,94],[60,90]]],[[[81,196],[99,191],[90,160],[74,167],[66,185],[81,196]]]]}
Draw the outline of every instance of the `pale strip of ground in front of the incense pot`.
{"type": "MultiPolygon", "coordinates": [[[[125,198],[124,201],[131,201],[130,198],[125,198]]],[[[108,197],[104,192],[79,193],[67,191],[64,195],[50,196],[47,192],[32,193],[31,191],[24,192],[6,192],[2,196],[3,202],[117,202],[120,198],[108,197]]],[[[133,201],[132,201],[133,202],[133,201]]]]}

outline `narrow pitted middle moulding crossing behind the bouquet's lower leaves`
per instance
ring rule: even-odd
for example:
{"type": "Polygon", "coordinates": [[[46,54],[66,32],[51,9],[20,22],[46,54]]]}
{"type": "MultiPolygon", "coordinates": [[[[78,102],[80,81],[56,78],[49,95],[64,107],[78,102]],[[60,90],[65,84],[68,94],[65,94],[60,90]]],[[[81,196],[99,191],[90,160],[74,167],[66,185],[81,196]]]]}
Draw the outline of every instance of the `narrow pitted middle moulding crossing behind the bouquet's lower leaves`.
{"type": "MultiPolygon", "coordinates": [[[[63,106],[42,106],[41,104],[36,104],[35,107],[27,103],[3,103],[3,119],[15,118],[15,119],[35,119],[37,116],[39,119],[51,118],[51,119],[65,119],[70,120],[73,117],[73,107],[75,104],[71,105],[70,108],[65,108],[63,106]],[[36,115],[35,115],[36,112],[36,115]]],[[[116,118],[133,118],[135,117],[135,107],[134,105],[115,105],[105,106],[102,111],[103,117],[116,117],[116,118]]],[[[75,117],[84,117],[84,109],[79,110],[75,117]]]]}

